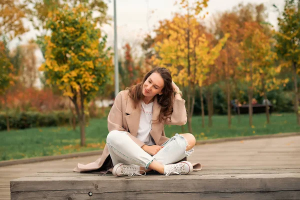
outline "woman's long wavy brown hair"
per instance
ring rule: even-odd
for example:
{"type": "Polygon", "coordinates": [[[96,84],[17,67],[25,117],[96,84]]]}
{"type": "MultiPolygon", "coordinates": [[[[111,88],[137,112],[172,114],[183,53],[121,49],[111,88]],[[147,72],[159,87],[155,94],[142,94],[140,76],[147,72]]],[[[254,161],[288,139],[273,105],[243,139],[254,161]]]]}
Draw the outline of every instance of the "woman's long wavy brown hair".
{"type": "Polygon", "coordinates": [[[132,85],[131,87],[127,87],[126,89],[129,90],[128,92],[129,97],[133,99],[134,108],[138,107],[140,100],[143,99],[142,85],[153,72],[159,73],[164,82],[164,86],[161,90],[162,94],[161,95],[156,94],[157,103],[161,106],[161,108],[160,108],[159,116],[155,121],[162,122],[167,118],[170,119],[169,115],[173,111],[174,95],[173,95],[172,77],[169,70],[167,70],[164,67],[155,67],[146,73],[146,75],[143,77],[141,82],[132,85]]]}

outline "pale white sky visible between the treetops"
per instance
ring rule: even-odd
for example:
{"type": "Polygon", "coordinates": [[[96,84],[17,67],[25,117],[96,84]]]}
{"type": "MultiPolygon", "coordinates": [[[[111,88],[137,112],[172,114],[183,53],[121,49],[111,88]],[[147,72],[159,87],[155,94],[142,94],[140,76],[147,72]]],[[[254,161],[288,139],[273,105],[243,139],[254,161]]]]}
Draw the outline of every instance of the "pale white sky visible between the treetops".
{"type": "MultiPolygon", "coordinates": [[[[125,42],[131,44],[139,44],[144,35],[158,25],[158,21],[172,17],[172,14],[178,11],[178,7],[174,6],[175,0],[116,0],[116,16],[117,16],[117,42],[118,48],[125,42]],[[152,12],[153,11],[153,12],[152,12]]],[[[282,10],[284,0],[209,0],[206,19],[212,14],[232,9],[238,3],[264,3],[267,8],[268,20],[276,27],[277,12],[272,4],[282,10]]],[[[108,15],[113,16],[113,0],[108,2],[108,15]]],[[[29,24],[26,23],[26,26],[29,24]]],[[[29,26],[31,29],[31,27],[29,26]]],[[[113,47],[113,20],[110,25],[105,25],[104,32],[108,35],[108,45],[113,47]]],[[[35,38],[36,31],[21,35],[22,40],[14,39],[10,42],[9,47],[13,48],[17,43],[24,43],[26,40],[35,38]]]]}

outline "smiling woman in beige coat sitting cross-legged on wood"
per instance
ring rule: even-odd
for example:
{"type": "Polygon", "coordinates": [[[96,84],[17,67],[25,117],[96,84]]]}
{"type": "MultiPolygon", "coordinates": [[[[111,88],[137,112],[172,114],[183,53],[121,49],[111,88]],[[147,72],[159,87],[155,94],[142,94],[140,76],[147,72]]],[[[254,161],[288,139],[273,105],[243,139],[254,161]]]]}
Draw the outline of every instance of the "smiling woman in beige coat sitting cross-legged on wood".
{"type": "Polygon", "coordinates": [[[109,133],[102,157],[79,164],[74,171],[111,171],[116,176],[188,174],[199,163],[180,161],[193,151],[195,138],[190,133],[167,138],[164,124],[186,123],[185,100],[164,67],[149,71],[141,83],[120,91],[107,118],[109,133]],[[113,166],[113,168],[112,168],[113,166]]]}

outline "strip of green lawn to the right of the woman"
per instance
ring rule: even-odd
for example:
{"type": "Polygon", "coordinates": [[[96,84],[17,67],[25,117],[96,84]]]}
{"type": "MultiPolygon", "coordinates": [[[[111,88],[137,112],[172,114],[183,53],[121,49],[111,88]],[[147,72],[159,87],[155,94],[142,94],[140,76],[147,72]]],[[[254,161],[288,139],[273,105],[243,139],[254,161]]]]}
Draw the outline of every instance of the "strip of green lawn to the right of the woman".
{"type": "MultiPolygon", "coordinates": [[[[248,135],[263,135],[284,132],[300,131],[296,124],[294,113],[272,113],[270,124],[266,124],[265,114],[254,114],[252,127],[249,126],[249,117],[246,114],[240,115],[238,124],[237,115],[231,117],[231,128],[228,128],[227,115],[215,115],[212,117],[212,127],[208,127],[208,117],[204,117],[205,127],[201,127],[201,116],[192,118],[192,133],[196,139],[214,139],[222,137],[236,137],[248,135]]],[[[181,133],[181,126],[167,126],[166,135],[171,136],[174,132],[181,133]]],[[[184,132],[188,132],[187,124],[184,125],[184,132]]]]}

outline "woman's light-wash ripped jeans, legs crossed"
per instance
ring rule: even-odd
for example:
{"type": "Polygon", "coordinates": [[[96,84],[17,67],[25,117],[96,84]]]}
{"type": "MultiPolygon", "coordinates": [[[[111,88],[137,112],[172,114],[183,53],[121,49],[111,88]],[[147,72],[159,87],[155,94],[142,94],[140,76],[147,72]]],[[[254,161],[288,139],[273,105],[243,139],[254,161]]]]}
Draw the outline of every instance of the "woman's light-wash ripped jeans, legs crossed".
{"type": "Polygon", "coordinates": [[[193,152],[193,149],[185,150],[187,142],[177,133],[164,142],[161,145],[163,148],[153,156],[139,147],[125,131],[110,131],[106,137],[106,144],[113,166],[121,162],[136,164],[145,169],[148,169],[153,160],[162,164],[175,163],[193,152]]]}

